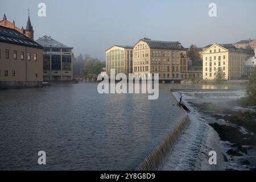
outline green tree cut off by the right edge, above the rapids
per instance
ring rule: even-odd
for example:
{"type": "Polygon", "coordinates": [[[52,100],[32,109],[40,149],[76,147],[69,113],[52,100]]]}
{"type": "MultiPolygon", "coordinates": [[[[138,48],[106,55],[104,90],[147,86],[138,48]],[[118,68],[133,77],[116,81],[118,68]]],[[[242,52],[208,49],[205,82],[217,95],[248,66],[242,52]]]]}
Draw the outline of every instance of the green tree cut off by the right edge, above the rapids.
{"type": "Polygon", "coordinates": [[[256,105],[256,67],[254,68],[254,71],[251,72],[249,83],[247,85],[246,96],[249,104],[256,105]]]}

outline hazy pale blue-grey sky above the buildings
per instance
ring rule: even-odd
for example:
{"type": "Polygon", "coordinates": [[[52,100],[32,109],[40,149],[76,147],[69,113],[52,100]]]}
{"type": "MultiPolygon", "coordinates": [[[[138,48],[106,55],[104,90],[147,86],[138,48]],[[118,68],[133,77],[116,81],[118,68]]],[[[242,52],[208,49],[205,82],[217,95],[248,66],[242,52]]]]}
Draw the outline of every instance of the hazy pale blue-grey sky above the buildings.
{"type": "Polygon", "coordinates": [[[152,40],[179,41],[184,47],[210,43],[234,43],[256,39],[256,1],[171,0],[8,0],[0,2],[16,26],[26,27],[27,9],[35,40],[49,35],[82,53],[105,61],[105,49],[133,46],[145,35],[152,40]],[[38,4],[46,3],[46,17],[38,16],[38,4]],[[208,5],[217,4],[210,18],[208,5]]]}

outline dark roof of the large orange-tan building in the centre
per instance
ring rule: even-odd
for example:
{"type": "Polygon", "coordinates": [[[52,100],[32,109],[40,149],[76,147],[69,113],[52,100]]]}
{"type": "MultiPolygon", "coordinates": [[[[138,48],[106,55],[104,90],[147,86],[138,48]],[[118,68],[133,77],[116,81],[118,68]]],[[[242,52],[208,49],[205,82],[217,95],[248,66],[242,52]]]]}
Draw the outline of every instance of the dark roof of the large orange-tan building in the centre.
{"type": "Polygon", "coordinates": [[[151,40],[151,39],[141,39],[146,42],[150,48],[156,49],[184,49],[183,46],[179,42],[167,42],[167,41],[159,41],[159,40],[151,40]]]}

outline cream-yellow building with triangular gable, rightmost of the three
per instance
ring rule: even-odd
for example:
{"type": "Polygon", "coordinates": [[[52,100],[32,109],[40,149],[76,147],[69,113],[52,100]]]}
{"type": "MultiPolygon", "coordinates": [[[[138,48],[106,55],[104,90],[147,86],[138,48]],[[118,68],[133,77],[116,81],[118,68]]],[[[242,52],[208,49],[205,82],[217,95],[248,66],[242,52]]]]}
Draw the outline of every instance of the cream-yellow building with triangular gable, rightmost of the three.
{"type": "Polygon", "coordinates": [[[219,68],[226,80],[245,76],[245,61],[251,53],[233,44],[212,44],[203,52],[203,79],[213,80],[219,68]]]}

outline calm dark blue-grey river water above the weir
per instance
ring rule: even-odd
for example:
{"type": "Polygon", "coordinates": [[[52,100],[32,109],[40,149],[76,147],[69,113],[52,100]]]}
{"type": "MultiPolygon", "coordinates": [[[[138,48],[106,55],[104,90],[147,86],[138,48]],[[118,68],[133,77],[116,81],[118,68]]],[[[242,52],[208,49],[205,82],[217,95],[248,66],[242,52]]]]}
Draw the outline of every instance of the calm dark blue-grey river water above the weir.
{"type": "Polygon", "coordinates": [[[134,169],[184,114],[169,88],[158,100],[97,83],[0,90],[0,169],[134,169]]]}

